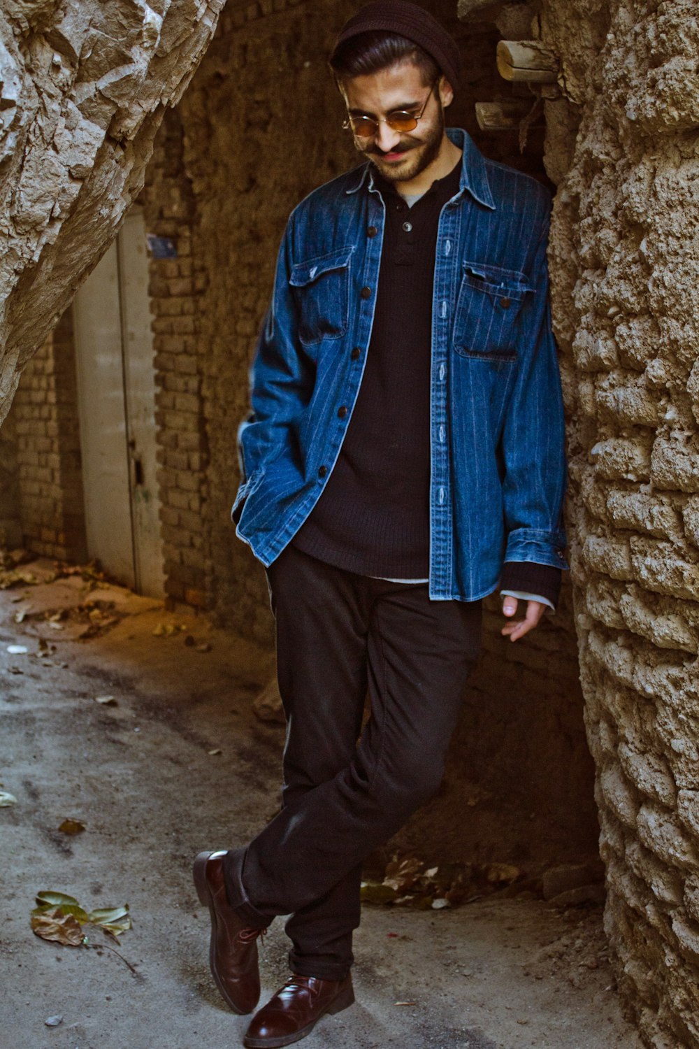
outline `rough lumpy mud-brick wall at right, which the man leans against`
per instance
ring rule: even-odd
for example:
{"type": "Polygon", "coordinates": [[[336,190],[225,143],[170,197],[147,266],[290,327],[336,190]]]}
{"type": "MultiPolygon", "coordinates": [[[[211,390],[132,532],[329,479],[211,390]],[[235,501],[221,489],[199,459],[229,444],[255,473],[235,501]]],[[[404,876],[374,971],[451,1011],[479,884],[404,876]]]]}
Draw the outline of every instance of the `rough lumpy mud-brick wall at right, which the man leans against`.
{"type": "Polygon", "coordinates": [[[606,924],[647,1044],[697,1047],[697,9],[545,0],[542,33],[573,103],[547,164],[606,924]]]}

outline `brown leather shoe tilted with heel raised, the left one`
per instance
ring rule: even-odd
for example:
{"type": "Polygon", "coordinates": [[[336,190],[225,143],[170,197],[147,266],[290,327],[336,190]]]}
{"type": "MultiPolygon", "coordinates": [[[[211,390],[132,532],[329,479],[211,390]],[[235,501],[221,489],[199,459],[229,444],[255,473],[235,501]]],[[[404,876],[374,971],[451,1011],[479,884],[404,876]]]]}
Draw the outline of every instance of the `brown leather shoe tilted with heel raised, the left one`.
{"type": "Polygon", "coordinates": [[[194,861],[197,896],[211,915],[209,964],[216,986],[234,1012],[252,1012],[260,1000],[257,938],[266,929],[249,928],[225,895],[224,852],[199,853],[194,861]]]}

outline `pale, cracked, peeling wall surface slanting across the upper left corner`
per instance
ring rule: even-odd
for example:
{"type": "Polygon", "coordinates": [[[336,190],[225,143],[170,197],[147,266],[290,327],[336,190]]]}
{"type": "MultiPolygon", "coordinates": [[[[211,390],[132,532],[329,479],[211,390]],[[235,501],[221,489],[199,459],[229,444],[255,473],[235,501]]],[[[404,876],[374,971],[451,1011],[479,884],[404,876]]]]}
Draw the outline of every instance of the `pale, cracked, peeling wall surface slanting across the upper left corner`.
{"type": "Polygon", "coordinates": [[[0,423],[114,238],[165,106],[224,0],[6,0],[0,12],[0,423]]]}

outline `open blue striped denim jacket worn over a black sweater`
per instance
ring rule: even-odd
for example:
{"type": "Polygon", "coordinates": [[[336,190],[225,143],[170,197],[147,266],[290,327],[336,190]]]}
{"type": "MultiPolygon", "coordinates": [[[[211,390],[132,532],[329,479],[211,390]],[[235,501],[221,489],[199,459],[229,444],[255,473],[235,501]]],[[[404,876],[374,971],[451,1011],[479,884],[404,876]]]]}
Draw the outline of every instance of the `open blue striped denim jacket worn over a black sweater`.
{"type": "MultiPolygon", "coordinates": [[[[463,162],[439,218],[434,273],[430,596],[473,601],[497,587],[504,559],[566,568],[564,423],[549,194],[485,159],[465,131],[447,133],[463,162]]],[[[384,222],[369,164],[289,217],[233,508],[238,536],[264,565],[301,528],[337,458],[371,337],[384,222]]]]}

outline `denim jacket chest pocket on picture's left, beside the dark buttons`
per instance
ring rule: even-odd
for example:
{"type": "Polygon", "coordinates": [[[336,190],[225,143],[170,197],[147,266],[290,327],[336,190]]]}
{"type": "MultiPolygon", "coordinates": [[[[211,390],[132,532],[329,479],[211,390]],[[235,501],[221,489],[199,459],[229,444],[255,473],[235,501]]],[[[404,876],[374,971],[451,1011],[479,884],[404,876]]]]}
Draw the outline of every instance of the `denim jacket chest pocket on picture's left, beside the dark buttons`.
{"type": "Polygon", "coordinates": [[[299,317],[299,338],[310,346],[323,339],[340,339],[349,319],[350,258],[353,248],[329,252],[291,269],[299,317]]]}

